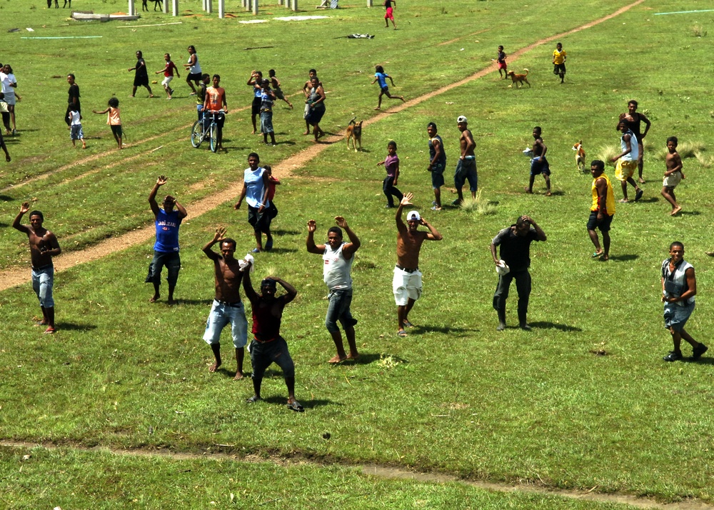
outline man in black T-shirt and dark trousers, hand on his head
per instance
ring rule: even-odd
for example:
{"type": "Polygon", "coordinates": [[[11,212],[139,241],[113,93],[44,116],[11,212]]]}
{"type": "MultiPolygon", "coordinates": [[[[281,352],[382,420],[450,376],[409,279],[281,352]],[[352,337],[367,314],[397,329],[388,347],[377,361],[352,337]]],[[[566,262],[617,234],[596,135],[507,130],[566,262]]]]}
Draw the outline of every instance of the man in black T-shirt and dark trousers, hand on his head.
{"type": "Polygon", "coordinates": [[[493,308],[498,314],[496,331],[506,329],[506,299],[508,299],[511,281],[514,279],[518,290],[519,327],[526,331],[531,329],[526,322],[528,298],[531,296],[531,274],[528,272],[528,267],[531,266],[531,242],[545,241],[545,239],[543,229],[533,221],[531,216],[524,214],[518,218],[515,225],[501,230],[491,241],[491,256],[498,271],[498,285],[496,293],[493,294],[493,308]],[[501,259],[496,256],[496,246],[501,246],[501,259]],[[509,271],[504,270],[504,263],[509,271]]]}

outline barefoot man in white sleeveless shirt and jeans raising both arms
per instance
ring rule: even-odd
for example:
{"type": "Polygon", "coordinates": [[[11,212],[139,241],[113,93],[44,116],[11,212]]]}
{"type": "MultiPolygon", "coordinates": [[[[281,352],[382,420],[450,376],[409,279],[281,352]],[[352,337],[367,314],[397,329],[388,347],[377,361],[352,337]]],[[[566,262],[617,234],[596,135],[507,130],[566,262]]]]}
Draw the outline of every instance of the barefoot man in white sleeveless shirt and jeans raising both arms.
{"type": "Polygon", "coordinates": [[[328,299],[330,306],[327,309],[325,326],[330,331],[332,340],[337,348],[337,356],[333,357],[329,363],[339,363],[346,359],[357,359],[357,343],[355,340],[355,324],[350,305],[352,304],[352,262],[355,251],[361,246],[360,240],[352,229],[348,226],[346,219],[336,216],[335,222],[338,226],[331,226],[327,231],[327,244],[315,244],[315,230],[317,224],[315,220],[308,221],[307,248],[311,254],[322,255],[323,279],[327,288],[330,289],[328,299]],[[342,229],[347,232],[350,242],[342,240],[342,229]],[[342,335],[337,326],[337,321],[342,324],[345,330],[347,343],[350,346],[350,354],[345,353],[342,343],[342,335]]]}

